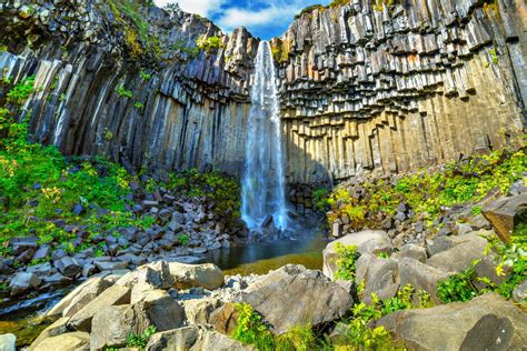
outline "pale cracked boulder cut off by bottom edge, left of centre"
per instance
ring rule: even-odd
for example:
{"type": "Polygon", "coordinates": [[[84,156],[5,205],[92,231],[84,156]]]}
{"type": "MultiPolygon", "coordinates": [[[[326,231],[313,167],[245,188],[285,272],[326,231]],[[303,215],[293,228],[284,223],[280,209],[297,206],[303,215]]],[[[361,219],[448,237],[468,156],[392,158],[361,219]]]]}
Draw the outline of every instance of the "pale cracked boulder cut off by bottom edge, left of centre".
{"type": "Polygon", "coordinates": [[[190,325],[156,333],[150,338],[147,351],[237,351],[250,350],[238,341],[202,325],[190,325]]]}

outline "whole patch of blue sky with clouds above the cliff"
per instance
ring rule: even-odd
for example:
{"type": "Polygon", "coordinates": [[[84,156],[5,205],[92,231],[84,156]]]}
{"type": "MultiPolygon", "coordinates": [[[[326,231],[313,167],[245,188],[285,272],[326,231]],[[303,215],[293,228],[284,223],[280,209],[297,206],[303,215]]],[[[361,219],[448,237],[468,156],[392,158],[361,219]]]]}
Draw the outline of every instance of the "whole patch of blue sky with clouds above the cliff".
{"type": "Polygon", "coordinates": [[[156,0],[160,7],[170,2],[213,20],[225,32],[243,26],[253,36],[270,39],[281,36],[304,8],[330,0],[156,0]]]}

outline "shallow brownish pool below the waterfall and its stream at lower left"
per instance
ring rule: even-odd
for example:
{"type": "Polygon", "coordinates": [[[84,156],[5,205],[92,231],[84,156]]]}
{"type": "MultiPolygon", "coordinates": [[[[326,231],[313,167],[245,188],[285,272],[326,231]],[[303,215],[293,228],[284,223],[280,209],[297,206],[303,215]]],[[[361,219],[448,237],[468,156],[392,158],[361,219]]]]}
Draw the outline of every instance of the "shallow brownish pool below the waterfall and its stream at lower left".
{"type": "MultiPolygon", "coordinates": [[[[302,264],[309,269],[322,268],[322,249],[327,240],[315,232],[301,240],[280,240],[251,243],[230,249],[209,251],[202,262],[217,264],[226,275],[266,274],[285,264],[302,264]]],[[[0,334],[17,335],[17,347],[26,347],[40,334],[52,319],[43,318],[73,285],[50,293],[42,293],[23,301],[0,302],[0,334]]]]}

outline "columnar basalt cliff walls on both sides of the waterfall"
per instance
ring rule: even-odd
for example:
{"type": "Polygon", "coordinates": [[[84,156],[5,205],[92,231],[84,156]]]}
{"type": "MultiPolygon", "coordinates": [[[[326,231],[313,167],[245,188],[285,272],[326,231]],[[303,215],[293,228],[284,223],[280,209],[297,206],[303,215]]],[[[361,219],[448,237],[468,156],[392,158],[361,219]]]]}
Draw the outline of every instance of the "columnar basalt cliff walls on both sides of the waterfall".
{"type": "MultiPolygon", "coordinates": [[[[0,74],[12,83],[36,74],[26,104],[36,139],[137,169],[239,173],[259,40],[157,8],[141,10],[145,39],[116,2],[0,4],[0,74]],[[219,40],[196,48],[207,38],[219,40]]],[[[290,183],[405,171],[517,142],[523,1],[370,2],[316,7],[272,40],[290,183]]]]}

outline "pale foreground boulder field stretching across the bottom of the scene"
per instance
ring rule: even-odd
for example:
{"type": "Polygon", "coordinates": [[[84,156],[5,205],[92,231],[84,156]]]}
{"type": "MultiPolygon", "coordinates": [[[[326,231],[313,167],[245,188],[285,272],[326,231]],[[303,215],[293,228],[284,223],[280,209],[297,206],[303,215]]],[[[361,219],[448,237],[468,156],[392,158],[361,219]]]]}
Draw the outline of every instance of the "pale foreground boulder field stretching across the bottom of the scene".
{"type": "Polygon", "coordinates": [[[429,295],[427,305],[382,312],[369,321],[370,329],[388,331],[409,350],[520,350],[527,343],[527,315],[519,308],[526,301],[525,272],[511,300],[489,289],[445,304],[438,287],[471,267],[476,285],[489,284],[484,277],[499,284],[515,274],[497,269],[500,258],[489,244],[526,203],[525,192],[494,201],[484,209],[490,222],[479,219],[491,229],[463,227],[424,244],[397,247],[381,230],[345,235],[324,251],[324,273],[289,264],[266,275],[223,277],[213,264],[166,260],[138,262],[135,270],[103,270],[47,312],[57,321],[29,350],[126,348],[130,335],[145,335],[138,338],[147,350],[249,350],[251,345],[229,337],[243,323],[240,305],[259,313],[276,338],[307,324],[324,332],[327,342],[346,344],[354,328],[349,311],[382,303],[386,309],[404,300],[401,291],[409,285],[429,295]],[[339,243],[357,254],[351,280],[336,279],[347,257],[339,243]]]}

